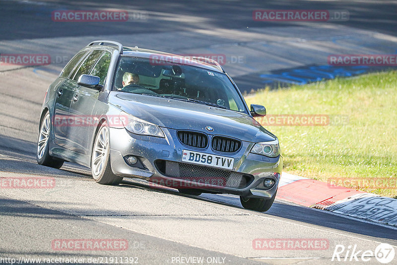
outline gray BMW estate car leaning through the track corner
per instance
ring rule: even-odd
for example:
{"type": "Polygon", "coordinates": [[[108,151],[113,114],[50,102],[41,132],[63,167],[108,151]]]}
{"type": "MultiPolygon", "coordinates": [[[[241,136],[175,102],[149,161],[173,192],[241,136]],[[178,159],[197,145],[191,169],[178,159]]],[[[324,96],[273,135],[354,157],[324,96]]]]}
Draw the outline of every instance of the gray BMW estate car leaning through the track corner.
{"type": "Polygon", "coordinates": [[[282,170],[277,137],[253,117],[236,84],[213,60],[94,41],[47,90],[37,162],[91,168],[116,185],[141,178],[181,193],[234,194],[266,211],[282,170]]]}

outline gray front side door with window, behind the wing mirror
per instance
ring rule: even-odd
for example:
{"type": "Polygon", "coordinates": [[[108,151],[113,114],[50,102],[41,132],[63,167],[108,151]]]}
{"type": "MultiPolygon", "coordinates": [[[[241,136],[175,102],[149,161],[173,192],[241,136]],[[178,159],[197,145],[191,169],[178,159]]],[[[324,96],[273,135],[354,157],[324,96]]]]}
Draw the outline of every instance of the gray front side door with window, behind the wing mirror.
{"type": "MultiPolygon", "coordinates": [[[[74,81],[77,81],[81,74],[91,74],[99,76],[101,78],[100,84],[103,85],[109,69],[110,59],[110,53],[94,51],[81,65],[81,69],[76,72],[73,78],[74,81]]],[[[76,117],[75,120],[78,121],[78,124],[68,128],[68,149],[83,154],[90,154],[90,140],[97,123],[97,117],[92,116],[92,111],[100,93],[102,92],[96,89],[78,85],[69,110],[69,117],[76,117]]]]}

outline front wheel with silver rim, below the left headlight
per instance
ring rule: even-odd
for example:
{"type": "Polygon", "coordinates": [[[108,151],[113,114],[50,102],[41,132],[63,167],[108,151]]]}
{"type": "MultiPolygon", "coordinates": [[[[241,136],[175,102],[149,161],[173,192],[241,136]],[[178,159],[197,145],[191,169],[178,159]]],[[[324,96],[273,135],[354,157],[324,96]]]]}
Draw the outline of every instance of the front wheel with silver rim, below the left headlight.
{"type": "Polygon", "coordinates": [[[104,122],[95,135],[91,152],[91,172],[94,180],[99,184],[117,185],[123,180],[122,177],[113,174],[110,165],[109,129],[104,122]]]}

